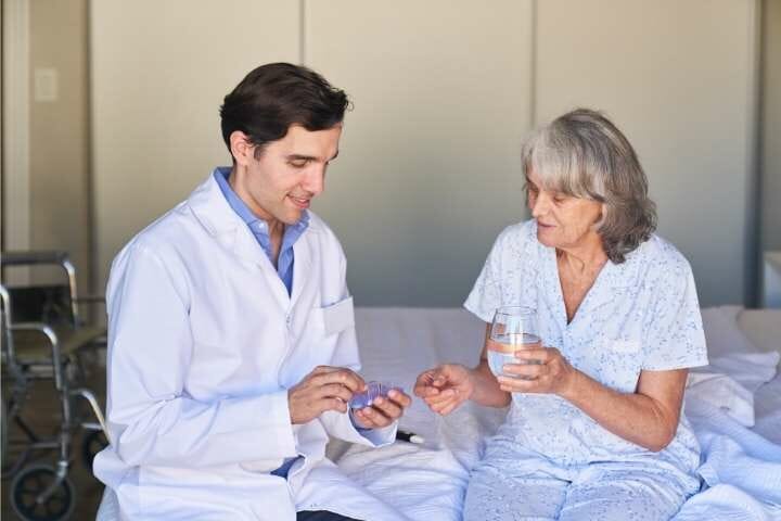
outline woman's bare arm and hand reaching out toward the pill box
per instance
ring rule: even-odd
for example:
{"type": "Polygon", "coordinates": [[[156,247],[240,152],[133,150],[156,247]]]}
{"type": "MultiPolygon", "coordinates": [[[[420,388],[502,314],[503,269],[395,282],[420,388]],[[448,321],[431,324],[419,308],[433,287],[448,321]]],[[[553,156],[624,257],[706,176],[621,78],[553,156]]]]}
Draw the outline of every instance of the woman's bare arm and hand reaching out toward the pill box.
{"type": "Polygon", "coordinates": [[[477,367],[469,369],[459,364],[444,364],[418,377],[414,394],[434,412],[448,415],[459,405],[472,399],[479,405],[505,407],[510,393],[499,389],[499,382],[490,372],[486,350],[490,342],[490,325],[486,327],[485,344],[477,367]]]}

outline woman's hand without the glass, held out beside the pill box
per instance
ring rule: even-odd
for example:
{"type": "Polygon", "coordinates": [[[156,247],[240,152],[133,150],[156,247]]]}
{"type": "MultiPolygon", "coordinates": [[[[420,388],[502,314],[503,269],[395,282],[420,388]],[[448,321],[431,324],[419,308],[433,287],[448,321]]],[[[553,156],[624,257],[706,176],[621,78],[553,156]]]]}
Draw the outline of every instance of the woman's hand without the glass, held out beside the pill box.
{"type": "Polygon", "coordinates": [[[449,415],[472,397],[474,382],[469,369],[460,364],[445,364],[418,377],[414,394],[441,416],[449,415]]]}

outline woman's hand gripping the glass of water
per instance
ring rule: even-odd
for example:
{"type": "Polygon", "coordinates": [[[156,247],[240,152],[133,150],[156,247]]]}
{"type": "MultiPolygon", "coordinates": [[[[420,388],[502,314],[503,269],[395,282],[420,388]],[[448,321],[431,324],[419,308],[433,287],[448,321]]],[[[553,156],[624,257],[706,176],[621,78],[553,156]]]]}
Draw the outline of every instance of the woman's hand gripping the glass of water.
{"type": "Polygon", "coordinates": [[[499,377],[499,386],[510,393],[549,393],[566,396],[577,369],[555,347],[517,350],[518,364],[505,364],[504,372],[517,378],[499,377]]]}

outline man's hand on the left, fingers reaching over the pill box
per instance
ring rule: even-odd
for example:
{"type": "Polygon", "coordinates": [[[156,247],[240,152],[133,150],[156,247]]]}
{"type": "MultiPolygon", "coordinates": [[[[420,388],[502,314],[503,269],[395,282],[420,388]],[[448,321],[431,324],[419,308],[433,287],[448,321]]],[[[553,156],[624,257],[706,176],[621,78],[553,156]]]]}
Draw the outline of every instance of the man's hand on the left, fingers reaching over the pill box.
{"type": "Polygon", "coordinates": [[[291,422],[307,423],[327,410],[346,412],[353,394],[364,389],[366,382],[355,371],[318,366],[287,391],[291,422]]]}

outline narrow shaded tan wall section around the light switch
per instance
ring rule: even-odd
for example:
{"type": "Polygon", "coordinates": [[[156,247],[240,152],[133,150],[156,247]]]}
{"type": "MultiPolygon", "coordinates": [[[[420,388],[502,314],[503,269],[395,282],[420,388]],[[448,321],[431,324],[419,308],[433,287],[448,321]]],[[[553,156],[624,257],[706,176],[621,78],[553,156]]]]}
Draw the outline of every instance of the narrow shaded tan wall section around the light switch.
{"type": "MultiPolygon", "coordinates": [[[[89,281],[89,147],[87,1],[40,0],[30,9],[30,247],[64,250],[89,281]],[[56,75],[53,99],[36,94],[36,72],[56,75]]],[[[44,92],[46,94],[46,92],[44,92]]],[[[34,282],[63,281],[37,268],[34,282]]]]}

